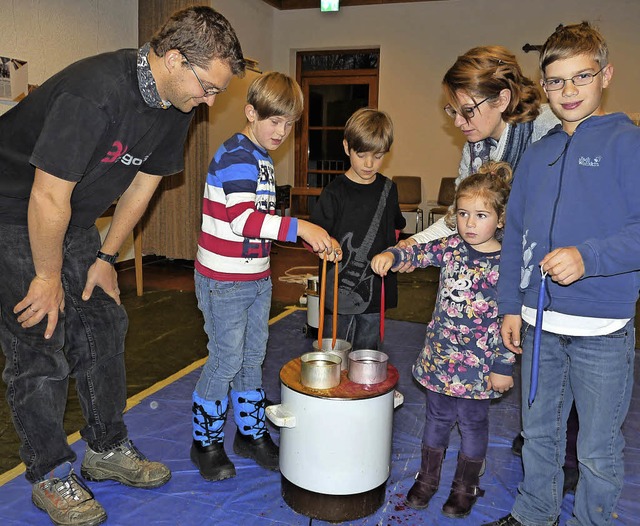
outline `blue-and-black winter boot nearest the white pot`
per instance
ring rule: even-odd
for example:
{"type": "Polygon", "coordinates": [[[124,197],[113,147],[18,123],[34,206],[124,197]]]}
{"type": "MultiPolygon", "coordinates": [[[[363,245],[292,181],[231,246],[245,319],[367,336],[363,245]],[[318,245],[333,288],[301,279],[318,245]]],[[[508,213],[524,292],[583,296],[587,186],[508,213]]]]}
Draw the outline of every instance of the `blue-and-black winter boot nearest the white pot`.
{"type": "Polygon", "coordinates": [[[263,389],[251,391],[231,390],[233,417],[238,426],[233,440],[236,455],[255,460],[265,469],[278,471],[280,456],[273,443],[265,419],[263,389]]]}

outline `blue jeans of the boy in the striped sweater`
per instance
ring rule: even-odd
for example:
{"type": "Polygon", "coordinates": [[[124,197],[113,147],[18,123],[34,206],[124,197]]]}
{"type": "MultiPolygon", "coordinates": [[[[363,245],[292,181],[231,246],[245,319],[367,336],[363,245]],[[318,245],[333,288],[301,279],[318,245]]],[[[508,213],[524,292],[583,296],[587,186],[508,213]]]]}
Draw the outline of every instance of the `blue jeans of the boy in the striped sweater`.
{"type": "Polygon", "coordinates": [[[198,307],[209,337],[209,357],[196,393],[205,400],[223,400],[229,387],[251,391],[262,387],[262,362],[267,353],[271,278],[217,281],[195,271],[198,307]]]}

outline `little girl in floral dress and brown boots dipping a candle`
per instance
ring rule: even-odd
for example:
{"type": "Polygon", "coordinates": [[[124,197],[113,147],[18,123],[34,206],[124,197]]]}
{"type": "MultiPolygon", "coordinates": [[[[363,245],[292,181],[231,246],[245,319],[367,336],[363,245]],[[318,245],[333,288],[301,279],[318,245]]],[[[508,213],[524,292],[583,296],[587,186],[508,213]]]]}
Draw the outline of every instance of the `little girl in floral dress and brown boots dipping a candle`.
{"type": "Polygon", "coordinates": [[[490,161],[458,186],[446,216],[458,233],[426,244],[392,247],[374,256],[373,271],[385,276],[410,261],[438,266],[440,285],[424,349],[413,375],[427,388],[422,463],[406,503],[424,509],[440,482],[449,435],[457,423],[462,435],[451,493],[442,508],[465,517],[478,496],[480,471],[489,440],[489,404],[513,387],[513,353],[500,339],[496,284],[511,167],[490,161]]]}

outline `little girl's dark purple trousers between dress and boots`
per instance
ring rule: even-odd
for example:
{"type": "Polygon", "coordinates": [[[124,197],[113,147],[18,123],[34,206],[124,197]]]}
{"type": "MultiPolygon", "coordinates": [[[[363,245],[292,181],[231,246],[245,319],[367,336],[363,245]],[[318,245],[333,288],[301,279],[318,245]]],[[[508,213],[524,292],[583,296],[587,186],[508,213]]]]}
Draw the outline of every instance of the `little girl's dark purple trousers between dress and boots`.
{"type": "Polygon", "coordinates": [[[423,446],[446,449],[457,423],[462,437],[460,452],[468,458],[484,459],[489,445],[490,403],[490,400],[456,398],[427,391],[423,446]]]}

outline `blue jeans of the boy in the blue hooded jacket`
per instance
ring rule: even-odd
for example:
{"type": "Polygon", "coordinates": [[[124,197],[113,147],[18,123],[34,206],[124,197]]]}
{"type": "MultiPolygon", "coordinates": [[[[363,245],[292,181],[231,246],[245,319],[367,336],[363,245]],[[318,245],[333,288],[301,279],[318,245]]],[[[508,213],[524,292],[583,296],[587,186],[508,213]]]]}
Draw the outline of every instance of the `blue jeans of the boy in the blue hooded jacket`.
{"type": "Polygon", "coordinates": [[[622,491],[621,427],[633,388],[635,331],[632,319],[606,336],[542,332],[538,391],[531,407],[533,327],[522,353],[522,450],[524,480],[513,516],[525,526],[553,524],[562,503],[566,422],[575,399],[580,481],[570,525],[611,524],[622,491]]]}

